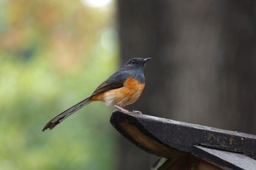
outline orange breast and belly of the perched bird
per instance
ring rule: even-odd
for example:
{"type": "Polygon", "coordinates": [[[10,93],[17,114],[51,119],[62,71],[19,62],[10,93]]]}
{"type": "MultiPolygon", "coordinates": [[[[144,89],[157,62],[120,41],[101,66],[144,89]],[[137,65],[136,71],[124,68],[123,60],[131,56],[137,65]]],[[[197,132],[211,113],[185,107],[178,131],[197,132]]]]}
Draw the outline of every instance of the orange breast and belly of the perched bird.
{"type": "Polygon", "coordinates": [[[139,82],[133,77],[128,77],[124,87],[108,90],[91,98],[91,101],[103,101],[108,106],[118,105],[125,107],[138,100],[143,92],[145,83],[139,82]]]}

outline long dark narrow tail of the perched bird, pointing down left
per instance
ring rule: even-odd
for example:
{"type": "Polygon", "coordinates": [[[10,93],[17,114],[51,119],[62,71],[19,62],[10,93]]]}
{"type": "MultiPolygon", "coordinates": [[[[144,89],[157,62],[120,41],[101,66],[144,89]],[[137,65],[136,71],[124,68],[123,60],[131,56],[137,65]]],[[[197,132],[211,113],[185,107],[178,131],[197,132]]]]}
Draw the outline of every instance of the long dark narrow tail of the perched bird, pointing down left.
{"type": "Polygon", "coordinates": [[[61,114],[54,117],[52,120],[50,120],[48,123],[46,123],[45,127],[42,129],[42,131],[54,128],[56,125],[61,123],[64,119],[72,115],[73,113],[77,112],[78,109],[81,109],[82,107],[85,107],[87,104],[91,103],[90,98],[86,98],[83,101],[80,101],[78,104],[75,104],[74,106],[70,107],[69,109],[65,110],[61,114]]]}

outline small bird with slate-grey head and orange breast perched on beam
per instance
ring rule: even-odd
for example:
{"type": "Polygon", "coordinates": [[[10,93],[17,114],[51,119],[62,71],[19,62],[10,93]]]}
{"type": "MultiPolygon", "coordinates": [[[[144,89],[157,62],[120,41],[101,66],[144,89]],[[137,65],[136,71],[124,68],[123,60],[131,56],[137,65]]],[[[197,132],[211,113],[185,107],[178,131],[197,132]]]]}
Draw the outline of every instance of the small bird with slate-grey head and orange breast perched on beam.
{"type": "Polygon", "coordinates": [[[42,131],[53,129],[64,119],[93,101],[102,101],[107,106],[115,107],[121,112],[141,114],[140,111],[130,112],[129,110],[124,109],[124,107],[137,101],[140,94],[143,92],[145,87],[145,76],[143,70],[146,62],[150,60],[151,58],[129,59],[121,69],[112,74],[107,80],[105,80],[105,82],[102,82],[96,90],[91,93],[91,96],[80,101],[69,109],[66,109],[56,117],[53,117],[52,120],[45,124],[42,131]]]}

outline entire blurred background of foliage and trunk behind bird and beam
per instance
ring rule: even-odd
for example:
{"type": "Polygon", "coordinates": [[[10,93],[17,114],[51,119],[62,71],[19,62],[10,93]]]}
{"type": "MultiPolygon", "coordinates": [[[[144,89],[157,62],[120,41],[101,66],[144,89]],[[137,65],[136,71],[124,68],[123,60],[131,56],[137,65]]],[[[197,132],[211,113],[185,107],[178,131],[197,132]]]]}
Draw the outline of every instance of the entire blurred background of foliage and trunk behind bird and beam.
{"type": "Polygon", "coordinates": [[[129,109],[256,134],[254,0],[0,0],[0,169],[149,169],[153,155],[89,104],[127,59],[151,57],[129,109]]]}

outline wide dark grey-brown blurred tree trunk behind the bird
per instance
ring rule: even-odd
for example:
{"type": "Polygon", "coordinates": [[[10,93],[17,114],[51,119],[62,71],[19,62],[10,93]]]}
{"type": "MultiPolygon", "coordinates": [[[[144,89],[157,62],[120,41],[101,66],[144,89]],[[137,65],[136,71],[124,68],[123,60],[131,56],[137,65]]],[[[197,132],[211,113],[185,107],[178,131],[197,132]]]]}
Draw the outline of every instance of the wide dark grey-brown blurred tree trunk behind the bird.
{"type": "MultiPolygon", "coordinates": [[[[121,61],[152,58],[143,95],[128,109],[255,131],[254,9],[254,1],[118,1],[121,61]]],[[[156,159],[122,138],[120,150],[122,170],[156,159]]]]}

